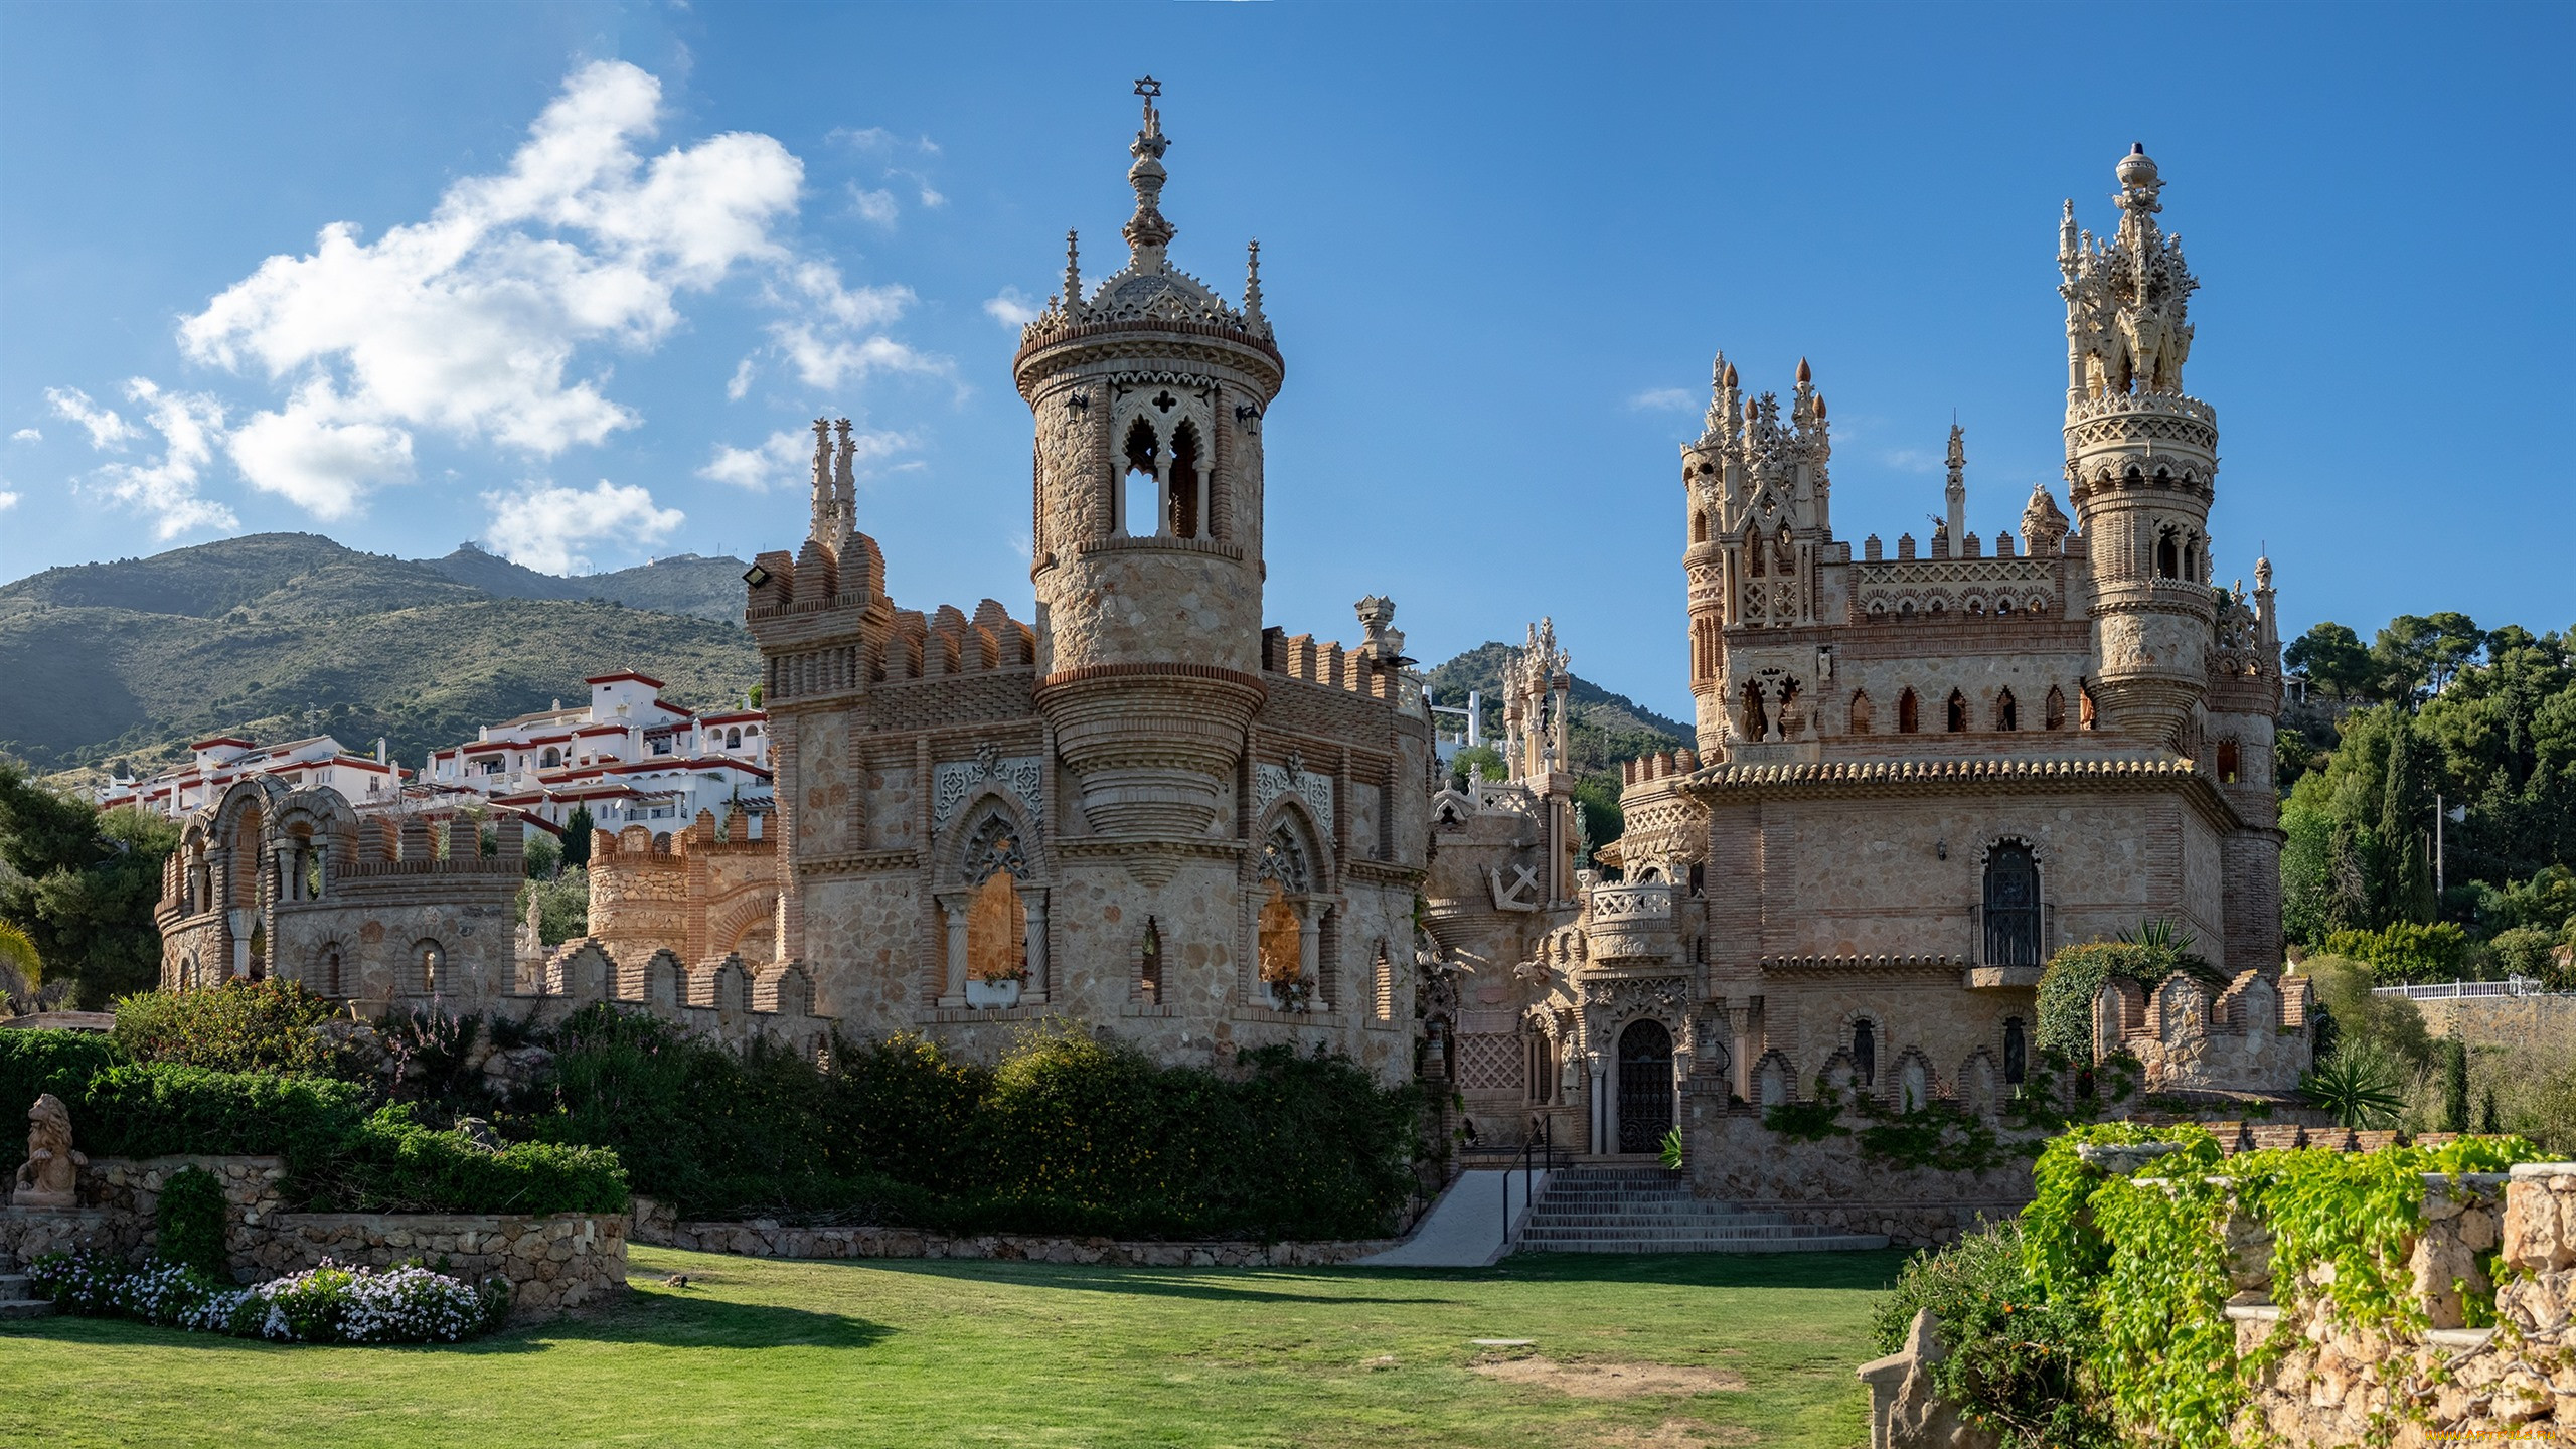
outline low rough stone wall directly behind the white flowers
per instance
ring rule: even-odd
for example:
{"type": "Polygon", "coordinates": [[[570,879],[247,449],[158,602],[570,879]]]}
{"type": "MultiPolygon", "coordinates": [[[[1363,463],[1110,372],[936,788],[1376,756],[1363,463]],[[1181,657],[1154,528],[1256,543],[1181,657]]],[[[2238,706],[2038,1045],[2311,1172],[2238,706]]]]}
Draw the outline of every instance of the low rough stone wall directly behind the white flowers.
{"type": "Polygon", "coordinates": [[[276,1279],[322,1258],[386,1269],[425,1258],[469,1284],[510,1281],[510,1320],[554,1318],[626,1289],[626,1217],[616,1212],[430,1214],[281,1212],[250,1250],[250,1279],[276,1279]]]}

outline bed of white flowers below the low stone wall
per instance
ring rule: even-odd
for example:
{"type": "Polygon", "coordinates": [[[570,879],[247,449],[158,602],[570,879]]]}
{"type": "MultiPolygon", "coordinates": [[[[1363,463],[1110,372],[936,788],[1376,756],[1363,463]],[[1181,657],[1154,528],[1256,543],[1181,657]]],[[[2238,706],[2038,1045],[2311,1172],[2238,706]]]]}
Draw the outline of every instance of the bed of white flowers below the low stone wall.
{"type": "Polygon", "coordinates": [[[247,1289],[183,1263],[108,1253],[49,1253],[26,1271],[64,1312],[278,1343],[456,1343],[510,1318],[505,1281],[474,1287],[417,1263],[350,1269],[325,1258],[247,1289]]]}

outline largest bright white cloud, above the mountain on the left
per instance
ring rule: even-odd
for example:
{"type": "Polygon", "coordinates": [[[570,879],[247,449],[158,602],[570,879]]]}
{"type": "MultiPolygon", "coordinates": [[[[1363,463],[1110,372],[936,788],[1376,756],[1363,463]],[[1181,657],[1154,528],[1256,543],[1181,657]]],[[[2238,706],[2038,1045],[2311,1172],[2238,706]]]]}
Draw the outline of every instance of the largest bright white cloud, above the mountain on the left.
{"type": "Polygon", "coordinates": [[[191,358],[294,384],[234,436],[242,474],[332,518],[410,477],[415,428],[554,456],[636,425],[598,376],[569,376],[577,348],[652,348],[677,294],[788,263],[773,232],[804,180],[744,131],[647,160],[659,111],[652,75],[587,64],[507,170],[453,183],[428,222],[376,242],[325,227],[185,317],[191,358]]]}

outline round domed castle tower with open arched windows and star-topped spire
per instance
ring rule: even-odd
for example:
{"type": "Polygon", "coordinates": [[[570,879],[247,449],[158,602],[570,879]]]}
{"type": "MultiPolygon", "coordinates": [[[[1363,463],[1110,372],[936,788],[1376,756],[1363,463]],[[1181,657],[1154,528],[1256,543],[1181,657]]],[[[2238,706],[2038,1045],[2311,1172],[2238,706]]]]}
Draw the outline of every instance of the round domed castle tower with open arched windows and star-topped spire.
{"type": "Polygon", "coordinates": [[[1038,709],[1103,835],[1218,822],[1262,670],[1262,415],[1285,364],[1262,317],[1260,245],[1231,307],[1167,255],[1170,137],[1146,77],[1128,152],[1126,266],[1020,335],[1036,413],[1038,709]]]}

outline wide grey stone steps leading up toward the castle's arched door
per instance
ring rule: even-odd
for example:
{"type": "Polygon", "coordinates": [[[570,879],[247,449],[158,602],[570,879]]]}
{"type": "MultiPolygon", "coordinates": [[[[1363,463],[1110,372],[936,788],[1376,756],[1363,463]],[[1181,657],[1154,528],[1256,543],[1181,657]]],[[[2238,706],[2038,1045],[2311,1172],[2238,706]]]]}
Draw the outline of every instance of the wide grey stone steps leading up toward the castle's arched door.
{"type": "Polygon", "coordinates": [[[1558,1168],[1517,1253],[1842,1253],[1886,1248],[1883,1232],[1842,1232],[1690,1194],[1682,1173],[1654,1163],[1558,1168]]]}

